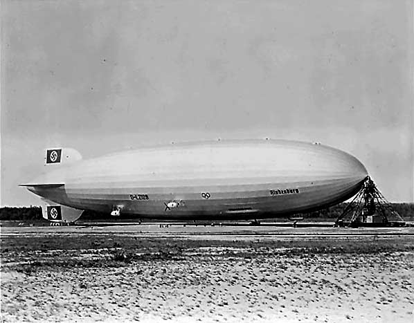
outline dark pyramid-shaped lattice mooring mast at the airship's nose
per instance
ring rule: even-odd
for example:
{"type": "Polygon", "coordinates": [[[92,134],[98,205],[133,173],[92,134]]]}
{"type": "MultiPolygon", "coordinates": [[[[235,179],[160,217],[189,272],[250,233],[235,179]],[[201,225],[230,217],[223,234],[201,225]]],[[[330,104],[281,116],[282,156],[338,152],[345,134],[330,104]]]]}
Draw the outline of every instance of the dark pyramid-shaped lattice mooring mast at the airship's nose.
{"type": "Polygon", "coordinates": [[[368,177],[361,190],[336,220],[335,225],[404,226],[406,223],[368,177]]]}

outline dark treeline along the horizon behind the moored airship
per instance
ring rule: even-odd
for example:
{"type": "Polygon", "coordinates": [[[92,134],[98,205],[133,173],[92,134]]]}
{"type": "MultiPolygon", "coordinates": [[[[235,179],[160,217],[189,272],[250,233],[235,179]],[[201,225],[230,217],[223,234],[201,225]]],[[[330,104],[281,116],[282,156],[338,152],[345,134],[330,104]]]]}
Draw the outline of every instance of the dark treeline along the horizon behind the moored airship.
{"type": "MultiPolygon", "coordinates": [[[[404,219],[413,219],[414,203],[390,203],[393,209],[404,219]]],[[[324,210],[305,214],[305,219],[337,219],[345,210],[348,203],[341,203],[324,210]]],[[[123,219],[126,219],[122,216],[123,219]]],[[[114,219],[114,216],[105,213],[85,211],[80,218],[82,220],[114,219]]],[[[42,217],[42,207],[1,207],[0,221],[46,221],[42,217]]]]}

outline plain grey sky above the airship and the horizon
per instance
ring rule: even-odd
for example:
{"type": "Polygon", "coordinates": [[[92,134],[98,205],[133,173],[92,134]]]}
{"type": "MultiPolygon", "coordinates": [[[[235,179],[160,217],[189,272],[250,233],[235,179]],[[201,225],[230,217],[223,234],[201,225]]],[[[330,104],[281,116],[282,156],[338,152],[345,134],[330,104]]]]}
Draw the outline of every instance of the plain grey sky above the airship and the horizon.
{"type": "Polygon", "coordinates": [[[2,1],[1,205],[44,148],[319,141],[413,201],[411,1],[2,1]],[[410,72],[411,69],[411,72],[410,72]]]}

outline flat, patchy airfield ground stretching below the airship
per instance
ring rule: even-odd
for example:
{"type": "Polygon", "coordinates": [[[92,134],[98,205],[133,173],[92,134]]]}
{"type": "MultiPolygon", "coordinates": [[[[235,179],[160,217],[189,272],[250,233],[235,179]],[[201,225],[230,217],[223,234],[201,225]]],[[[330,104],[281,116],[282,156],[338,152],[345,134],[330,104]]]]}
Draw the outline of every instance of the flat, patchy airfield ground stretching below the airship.
{"type": "Polygon", "coordinates": [[[413,251],[414,228],[2,227],[1,320],[413,322],[413,251]]]}

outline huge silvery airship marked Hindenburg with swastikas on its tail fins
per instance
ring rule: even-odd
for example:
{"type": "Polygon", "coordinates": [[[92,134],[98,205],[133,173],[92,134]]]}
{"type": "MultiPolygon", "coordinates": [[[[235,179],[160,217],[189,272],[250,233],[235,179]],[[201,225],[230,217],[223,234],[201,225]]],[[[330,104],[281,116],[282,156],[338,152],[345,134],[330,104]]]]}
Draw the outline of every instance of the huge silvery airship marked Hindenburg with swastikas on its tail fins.
{"type": "Polygon", "coordinates": [[[57,147],[46,149],[44,169],[21,186],[57,222],[76,221],[85,210],[140,221],[294,216],[350,199],[368,177],[339,149],[270,139],[182,142],[85,160],[57,147]]]}

